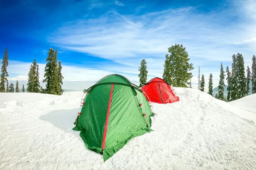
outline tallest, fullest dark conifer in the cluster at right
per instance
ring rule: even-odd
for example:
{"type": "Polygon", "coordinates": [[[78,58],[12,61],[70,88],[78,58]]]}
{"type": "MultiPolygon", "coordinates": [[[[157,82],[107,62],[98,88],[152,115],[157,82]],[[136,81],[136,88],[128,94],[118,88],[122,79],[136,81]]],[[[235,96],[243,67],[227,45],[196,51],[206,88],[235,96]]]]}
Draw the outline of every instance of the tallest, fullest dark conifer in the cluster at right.
{"type": "Polygon", "coordinates": [[[236,91],[237,99],[242,98],[246,95],[246,77],[243,55],[237,53],[236,55],[236,91]]]}

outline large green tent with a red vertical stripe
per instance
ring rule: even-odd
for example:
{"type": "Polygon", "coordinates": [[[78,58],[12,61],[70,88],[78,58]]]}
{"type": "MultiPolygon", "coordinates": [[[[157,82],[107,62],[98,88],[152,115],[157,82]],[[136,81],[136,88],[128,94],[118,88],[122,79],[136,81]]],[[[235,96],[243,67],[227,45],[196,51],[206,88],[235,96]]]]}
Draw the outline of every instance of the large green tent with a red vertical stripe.
{"type": "Polygon", "coordinates": [[[104,162],[133,137],[152,131],[150,105],[127,78],[111,74],[86,90],[75,131],[86,147],[103,154],[104,162]]]}

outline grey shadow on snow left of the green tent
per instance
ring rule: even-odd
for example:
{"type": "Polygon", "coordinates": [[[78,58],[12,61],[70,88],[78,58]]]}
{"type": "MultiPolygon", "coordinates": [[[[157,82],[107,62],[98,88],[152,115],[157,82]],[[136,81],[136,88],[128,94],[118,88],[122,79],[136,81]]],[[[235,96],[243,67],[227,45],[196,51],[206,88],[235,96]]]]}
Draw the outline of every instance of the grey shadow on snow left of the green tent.
{"type": "Polygon", "coordinates": [[[53,110],[48,114],[41,115],[39,119],[43,121],[48,121],[53,126],[65,132],[72,133],[74,136],[78,137],[81,142],[84,142],[79,135],[80,132],[72,130],[72,128],[74,127],[74,121],[77,116],[75,113],[77,113],[77,111],[78,108],[70,110],[53,110]]]}

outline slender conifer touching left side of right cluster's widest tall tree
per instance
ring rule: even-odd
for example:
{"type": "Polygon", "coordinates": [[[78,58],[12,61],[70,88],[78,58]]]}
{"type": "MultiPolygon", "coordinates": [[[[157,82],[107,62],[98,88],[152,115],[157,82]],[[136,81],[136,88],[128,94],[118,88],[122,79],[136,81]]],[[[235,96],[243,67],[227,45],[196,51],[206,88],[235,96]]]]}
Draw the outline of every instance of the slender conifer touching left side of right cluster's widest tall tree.
{"type": "Polygon", "coordinates": [[[231,76],[230,76],[230,86],[229,86],[229,90],[230,90],[230,100],[229,101],[233,101],[236,100],[236,55],[233,54],[232,55],[232,70],[231,70],[231,76]]]}

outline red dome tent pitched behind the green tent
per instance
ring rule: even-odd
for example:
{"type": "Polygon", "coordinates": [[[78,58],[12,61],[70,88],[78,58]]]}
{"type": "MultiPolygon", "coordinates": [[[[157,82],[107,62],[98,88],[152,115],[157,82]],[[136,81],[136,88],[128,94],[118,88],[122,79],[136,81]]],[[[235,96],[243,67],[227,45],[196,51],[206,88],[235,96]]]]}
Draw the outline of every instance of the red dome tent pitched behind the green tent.
{"type": "Polygon", "coordinates": [[[166,104],[179,101],[179,97],[175,95],[174,89],[171,85],[158,77],[148,81],[141,90],[146,93],[143,93],[146,99],[154,103],[166,104]]]}

